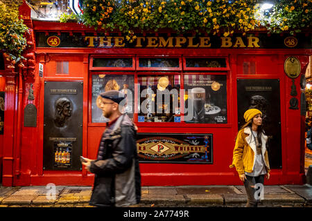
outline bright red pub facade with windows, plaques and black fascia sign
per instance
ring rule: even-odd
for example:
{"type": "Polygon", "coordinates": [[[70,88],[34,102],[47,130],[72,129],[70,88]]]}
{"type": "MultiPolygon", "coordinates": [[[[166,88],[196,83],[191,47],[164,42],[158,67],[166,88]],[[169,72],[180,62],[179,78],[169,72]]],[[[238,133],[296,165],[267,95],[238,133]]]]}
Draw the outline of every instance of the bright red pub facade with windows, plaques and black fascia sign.
{"type": "Polygon", "coordinates": [[[250,107],[265,115],[272,167],[266,184],[304,183],[302,88],[311,32],[223,37],[165,30],[138,33],[129,43],[119,32],[33,21],[21,11],[33,64],[0,70],[3,186],[92,185],[79,156],[96,157],[107,120],[96,98],[110,89],[128,95],[144,186],[241,184],[229,164],[250,107]]]}

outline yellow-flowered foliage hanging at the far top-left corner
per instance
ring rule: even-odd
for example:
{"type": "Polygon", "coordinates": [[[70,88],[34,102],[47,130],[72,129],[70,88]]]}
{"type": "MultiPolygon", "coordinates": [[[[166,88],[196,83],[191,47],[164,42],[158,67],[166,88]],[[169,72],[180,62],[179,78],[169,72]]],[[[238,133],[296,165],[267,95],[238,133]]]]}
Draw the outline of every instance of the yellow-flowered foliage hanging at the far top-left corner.
{"type": "Polygon", "coordinates": [[[18,63],[23,66],[21,53],[26,49],[24,34],[28,28],[19,17],[17,6],[8,7],[0,3],[0,15],[0,50],[6,50],[4,55],[11,61],[10,66],[18,63]]]}

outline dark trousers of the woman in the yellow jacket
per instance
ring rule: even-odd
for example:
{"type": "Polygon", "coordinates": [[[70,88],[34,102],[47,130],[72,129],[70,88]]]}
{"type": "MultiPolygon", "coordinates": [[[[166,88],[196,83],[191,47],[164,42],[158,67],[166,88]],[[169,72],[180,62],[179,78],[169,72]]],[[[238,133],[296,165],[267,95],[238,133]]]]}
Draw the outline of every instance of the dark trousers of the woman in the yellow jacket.
{"type": "Polygon", "coordinates": [[[255,184],[263,184],[264,175],[259,175],[257,177],[250,177],[249,175],[245,176],[247,178],[247,180],[245,180],[244,182],[245,190],[247,193],[246,207],[257,207],[259,200],[254,198],[254,193],[257,191],[257,189],[255,189],[255,184]]]}

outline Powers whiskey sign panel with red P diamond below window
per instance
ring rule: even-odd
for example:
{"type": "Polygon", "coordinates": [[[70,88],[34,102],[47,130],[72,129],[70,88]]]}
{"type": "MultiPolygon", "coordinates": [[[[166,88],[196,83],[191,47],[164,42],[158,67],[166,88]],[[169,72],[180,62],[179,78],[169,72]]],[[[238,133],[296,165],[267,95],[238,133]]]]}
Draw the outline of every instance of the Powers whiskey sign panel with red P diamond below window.
{"type": "Polygon", "coordinates": [[[138,133],[140,162],[212,164],[212,134],[138,133]]]}

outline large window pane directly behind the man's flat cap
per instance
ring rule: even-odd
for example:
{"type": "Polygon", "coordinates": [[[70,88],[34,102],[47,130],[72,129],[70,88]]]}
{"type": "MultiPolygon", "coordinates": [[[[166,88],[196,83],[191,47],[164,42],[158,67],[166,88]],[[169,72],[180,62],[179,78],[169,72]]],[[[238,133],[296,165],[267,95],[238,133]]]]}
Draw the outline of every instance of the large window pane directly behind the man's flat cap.
{"type": "Polygon", "coordinates": [[[133,99],[133,95],[135,94],[134,75],[92,75],[92,123],[108,122],[108,119],[103,116],[102,110],[97,105],[98,95],[107,90],[121,90],[127,94],[123,112],[127,113],[132,119],[135,102],[133,99]]]}

